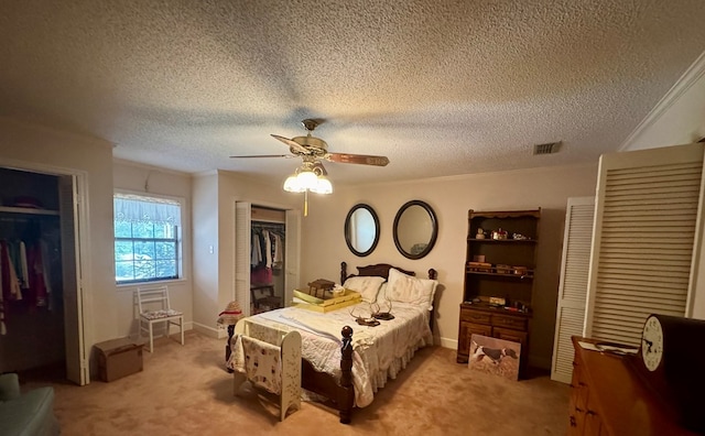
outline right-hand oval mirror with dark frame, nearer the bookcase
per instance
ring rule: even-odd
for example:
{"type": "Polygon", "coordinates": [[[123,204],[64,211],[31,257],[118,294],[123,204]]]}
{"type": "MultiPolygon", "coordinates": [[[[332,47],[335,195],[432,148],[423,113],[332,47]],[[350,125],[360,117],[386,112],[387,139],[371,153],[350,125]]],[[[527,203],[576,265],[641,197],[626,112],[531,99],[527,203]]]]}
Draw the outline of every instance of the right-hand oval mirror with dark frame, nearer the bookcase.
{"type": "Polygon", "coordinates": [[[429,254],[438,236],[436,215],[426,203],[411,200],[394,217],[394,244],[409,259],[429,254]]]}

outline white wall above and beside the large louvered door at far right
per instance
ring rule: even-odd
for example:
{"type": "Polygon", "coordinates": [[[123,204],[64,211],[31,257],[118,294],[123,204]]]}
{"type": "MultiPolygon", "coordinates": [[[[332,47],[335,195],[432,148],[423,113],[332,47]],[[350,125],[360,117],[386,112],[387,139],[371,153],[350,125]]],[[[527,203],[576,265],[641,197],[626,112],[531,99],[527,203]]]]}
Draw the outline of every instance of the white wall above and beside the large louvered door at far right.
{"type": "MultiPolygon", "coordinates": [[[[705,138],[705,52],[657,105],[621,146],[621,151],[686,144],[705,138]]],[[[702,195],[705,195],[703,193],[702,195]]],[[[699,224],[699,259],[688,315],[705,319],[705,255],[699,224]]]]}

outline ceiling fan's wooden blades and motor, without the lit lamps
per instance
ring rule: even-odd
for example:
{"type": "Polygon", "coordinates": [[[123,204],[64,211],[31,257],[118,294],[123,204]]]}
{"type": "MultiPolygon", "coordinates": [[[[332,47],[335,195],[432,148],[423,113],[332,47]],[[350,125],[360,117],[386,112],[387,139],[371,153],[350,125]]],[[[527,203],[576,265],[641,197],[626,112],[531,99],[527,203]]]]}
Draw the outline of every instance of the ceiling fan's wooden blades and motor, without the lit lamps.
{"type": "MultiPolygon", "coordinates": [[[[387,166],[389,159],[386,156],[375,156],[369,154],[350,154],[350,153],[328,153],[328,144],[311,133],[321,124],[322,120],[307,118],[301,123],[306,129],[307,134],[305,137],[294,137],[292,139],[272,134],[273,138],[289,145],[289,151],[294,156],[303,159],[304,164],[315,165],[323,168],[323,164],[319,160],[337,163],[351,163],[361,165],[375,165],[387,166]]],[[[288,154],[260,154],[249,156],[230,156],[230,157],[291,157],[288,154]]],[[[325,172],[325,170],[323,168],[325,172]]]]}

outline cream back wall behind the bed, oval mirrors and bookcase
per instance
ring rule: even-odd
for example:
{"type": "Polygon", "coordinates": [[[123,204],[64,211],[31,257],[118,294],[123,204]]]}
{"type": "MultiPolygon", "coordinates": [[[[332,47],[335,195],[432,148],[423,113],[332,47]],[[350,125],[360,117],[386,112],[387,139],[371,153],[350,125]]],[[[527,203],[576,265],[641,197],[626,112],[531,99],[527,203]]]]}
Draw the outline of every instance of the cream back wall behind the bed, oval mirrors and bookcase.
{"type": "Polygon", "coordinates": [[[339,282],[339,264],[348,273],[356,266],[391,263],[426,276],[438,271],[442,284],[436,304],[434,333],[445,347],[457,347],[459,304],[463,299],[467,212],[542,208],[539,229],[536,281],[531,330],[530,360],[549,368],[553,347],[555,307],[560,277],[563,226],[568,197],[595,195],[597,162],[564,166],[356,188],[337,188],[330,196],[311,196],[308,217],[303,219],[302,282],[328,279],[339,282]],[[438,219],[438,238],[423,259],[410,260],[397,251],[392,225],[399,208],[421,199],[431,205],[438,219]],[[344,224],[348,210],[358,203],[370,205],[379,216],[381,233],[376,250],[355,257],[345,243],[344,224]]]}

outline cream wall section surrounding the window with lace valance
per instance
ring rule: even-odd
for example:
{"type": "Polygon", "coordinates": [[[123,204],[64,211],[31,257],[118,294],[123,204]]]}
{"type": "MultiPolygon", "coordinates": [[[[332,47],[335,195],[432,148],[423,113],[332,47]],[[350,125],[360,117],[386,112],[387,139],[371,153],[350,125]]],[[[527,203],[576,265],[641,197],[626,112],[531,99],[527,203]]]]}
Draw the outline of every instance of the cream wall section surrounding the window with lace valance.
{"type": "MultiPolygon", "coordinates": [[[[165,282],[173,308],[184,313],[185,328],[193,324],[193,276],[192,276],[192,230],[191,230],[191,175],[158,168],[154,166],[115,160],[112,166],[115,189],[124,189],[138,194],[166,195],[184,199],[184,220],[182,222],[182,264],[183,279],[165,282]]],[[[119,336],[137,337],[140,334],[134,306],[137,285],[117,286],[117,323],[119,336]]]]}

